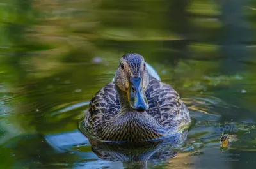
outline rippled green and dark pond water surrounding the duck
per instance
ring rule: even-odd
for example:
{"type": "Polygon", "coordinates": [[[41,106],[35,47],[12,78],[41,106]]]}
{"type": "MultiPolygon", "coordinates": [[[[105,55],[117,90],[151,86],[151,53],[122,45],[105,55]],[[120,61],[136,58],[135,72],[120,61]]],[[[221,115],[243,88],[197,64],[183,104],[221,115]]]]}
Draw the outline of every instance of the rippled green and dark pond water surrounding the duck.
{"type": "Polygon", "coordinates": [[[2,0],[0,168],[255,168],[255,11],[253,0],[2,0]],[[188,105],[186,139],[92,146],[78,131],[129,52],[188,105]],[[218,126],[232,124],[239,140],[221,153],[218,126]]]}

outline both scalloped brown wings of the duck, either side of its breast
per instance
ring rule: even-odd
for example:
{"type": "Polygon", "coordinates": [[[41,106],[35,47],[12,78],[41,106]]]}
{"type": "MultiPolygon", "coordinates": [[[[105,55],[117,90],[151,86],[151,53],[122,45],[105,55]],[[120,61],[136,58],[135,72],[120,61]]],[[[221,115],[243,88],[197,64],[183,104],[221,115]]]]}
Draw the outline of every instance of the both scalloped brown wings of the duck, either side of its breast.
{"type": "MultiPolygon", "coordinates": [[[[150,76],[146,97],[149,104],[147,113],[168,131],[175,132],[180,126],[191,121],[186,105],[170,85],[150,76]]],[[[95,129],[99,124],[115,117],[119,110],[119,98],[112,81],[100,89],[90,101],[84,125],[95,129]]]]}

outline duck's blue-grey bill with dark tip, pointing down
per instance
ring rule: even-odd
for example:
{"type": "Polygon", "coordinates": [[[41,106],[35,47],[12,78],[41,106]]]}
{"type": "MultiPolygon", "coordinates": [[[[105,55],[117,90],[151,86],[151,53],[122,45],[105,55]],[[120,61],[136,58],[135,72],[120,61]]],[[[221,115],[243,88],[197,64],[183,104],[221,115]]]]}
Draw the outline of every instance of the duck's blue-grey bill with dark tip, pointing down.
{"type": "Polygon", "coordinates": [[[148,101],[143,90],[141,78],[130,78],[128,98],[131,107],[138,112],[148,110],[148,101]]]}

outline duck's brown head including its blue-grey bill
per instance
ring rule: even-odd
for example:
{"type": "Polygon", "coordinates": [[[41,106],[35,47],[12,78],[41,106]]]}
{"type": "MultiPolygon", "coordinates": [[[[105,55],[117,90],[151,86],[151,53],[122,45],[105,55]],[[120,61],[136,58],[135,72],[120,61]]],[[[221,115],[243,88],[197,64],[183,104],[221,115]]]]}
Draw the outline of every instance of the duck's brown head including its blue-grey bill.
{"type": "Polygon", "coordinates": [[[125,54],[120,60],[116,70],[115,84],[127,94],[129,106],[143,112],[148,109],[145,91],[148,86],[149,76],[144,58],[139,54],[125,54]]]}

